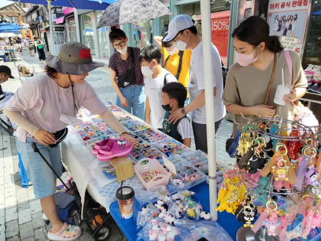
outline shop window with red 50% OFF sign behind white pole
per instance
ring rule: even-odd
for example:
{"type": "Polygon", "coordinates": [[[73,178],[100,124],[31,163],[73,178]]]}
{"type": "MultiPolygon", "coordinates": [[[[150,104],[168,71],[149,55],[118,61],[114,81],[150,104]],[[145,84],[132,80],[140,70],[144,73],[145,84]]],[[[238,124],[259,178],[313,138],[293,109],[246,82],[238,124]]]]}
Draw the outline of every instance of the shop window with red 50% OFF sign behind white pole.
{"type": "MultiPolygon", "coordinates": [[[[221,60],[227,66],[228,30],[230,24],[230,1],[210,0],[212,43],[218,48],[221,60]]],[[[195,20],[198,34],[201,32],[201,3],[180,5],[180,14],[187,14],[195,20]]]]}

